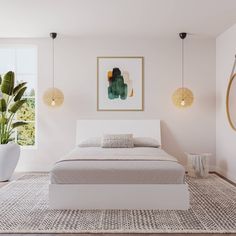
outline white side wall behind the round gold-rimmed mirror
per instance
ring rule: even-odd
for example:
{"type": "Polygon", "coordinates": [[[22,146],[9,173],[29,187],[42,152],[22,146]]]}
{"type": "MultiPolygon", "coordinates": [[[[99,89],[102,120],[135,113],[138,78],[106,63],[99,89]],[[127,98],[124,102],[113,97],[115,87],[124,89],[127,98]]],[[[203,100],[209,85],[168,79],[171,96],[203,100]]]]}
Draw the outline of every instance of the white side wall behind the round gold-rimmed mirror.
{"type": "Polygon", "coordinates": [[[217,171],[236,181],[236,132],[225,109],[226,90],[236,54],[236,25],[216,39],[216,161],[217,171]]]}

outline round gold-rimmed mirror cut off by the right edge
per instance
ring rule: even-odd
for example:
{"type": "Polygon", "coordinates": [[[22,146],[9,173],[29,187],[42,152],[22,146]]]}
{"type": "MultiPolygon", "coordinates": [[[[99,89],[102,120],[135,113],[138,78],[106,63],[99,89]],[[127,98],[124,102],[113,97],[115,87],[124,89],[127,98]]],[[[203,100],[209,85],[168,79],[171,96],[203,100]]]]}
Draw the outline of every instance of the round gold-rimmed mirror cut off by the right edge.
{"type": "Polygon", "coordinates": [[[226,112],[230,126],[236,131],[236,73],[231,76],[228,84],[226,112]]]}

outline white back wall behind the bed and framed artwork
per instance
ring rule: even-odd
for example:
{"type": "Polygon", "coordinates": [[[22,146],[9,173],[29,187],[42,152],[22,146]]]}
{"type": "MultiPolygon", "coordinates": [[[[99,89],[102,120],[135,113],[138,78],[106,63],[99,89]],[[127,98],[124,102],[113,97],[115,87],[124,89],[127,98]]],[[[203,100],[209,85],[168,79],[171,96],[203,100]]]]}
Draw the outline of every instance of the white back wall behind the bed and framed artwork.
{"type": "Polygon", "coordinates": [[[49,170],[73,148],[75,121],[79,118],[160,118],[164,149],[185,163],[185,151],[212,152],[215,162],[215,40],[186,41],[186,85],[195,95],[194,105],[178,110],[171,95],[180,86],[180,40],[175,39],[56,39],[56,86],[64,105],[50,109],[42,102],[51,86],[50,39],[0,40],[0,43],[38,46],[38,148],[23,150],[17,170],[49,170]],[[96,111],[96,57],[144,56],[144,112],[96,111]]]}

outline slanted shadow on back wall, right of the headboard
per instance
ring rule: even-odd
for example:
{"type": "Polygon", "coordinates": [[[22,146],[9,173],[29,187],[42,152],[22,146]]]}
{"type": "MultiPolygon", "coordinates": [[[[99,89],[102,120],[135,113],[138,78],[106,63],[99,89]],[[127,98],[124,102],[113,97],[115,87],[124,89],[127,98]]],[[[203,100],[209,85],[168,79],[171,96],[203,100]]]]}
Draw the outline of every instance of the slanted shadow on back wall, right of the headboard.
{"type": "Polygon", "coordinates": [[[186,164],[186,156],[183,153],[179,143],[175,139],[167,124],[161,121],[162,148],[170,155],[176,157],[183,165],[186,164]]]}

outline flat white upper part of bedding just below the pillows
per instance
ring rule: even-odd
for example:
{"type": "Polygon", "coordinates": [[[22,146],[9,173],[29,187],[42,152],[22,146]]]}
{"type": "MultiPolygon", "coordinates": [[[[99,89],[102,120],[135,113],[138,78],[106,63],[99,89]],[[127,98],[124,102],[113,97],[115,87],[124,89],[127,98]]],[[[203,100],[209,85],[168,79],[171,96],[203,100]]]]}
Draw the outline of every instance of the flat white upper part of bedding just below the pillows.
{"type": "Polygon", "coordinates": [[[139,161],[174,161],[177,159],[167,154],[160,148],[135,147],[135,148],[101,148],[101,147],[76,147],[59,161],[71,160],[139,160],[139,161]]]}

